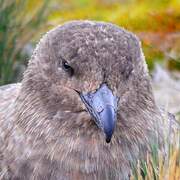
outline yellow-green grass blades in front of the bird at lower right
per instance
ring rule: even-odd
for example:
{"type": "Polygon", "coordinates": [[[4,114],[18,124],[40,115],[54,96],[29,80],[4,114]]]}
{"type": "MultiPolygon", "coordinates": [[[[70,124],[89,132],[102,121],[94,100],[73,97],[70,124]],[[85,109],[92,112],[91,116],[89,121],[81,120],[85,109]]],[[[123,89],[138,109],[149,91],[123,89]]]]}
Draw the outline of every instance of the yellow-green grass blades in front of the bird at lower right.
{"type": "Polygon", "coordinates": [[[146,161],[139,160],[133,168],[131,180],[179,180],[180,179],[180,132],[174,133],[173,143],[166,141],[168,147],[166,155],[152,146],[152,153],[147,155],[146,161]]]}

